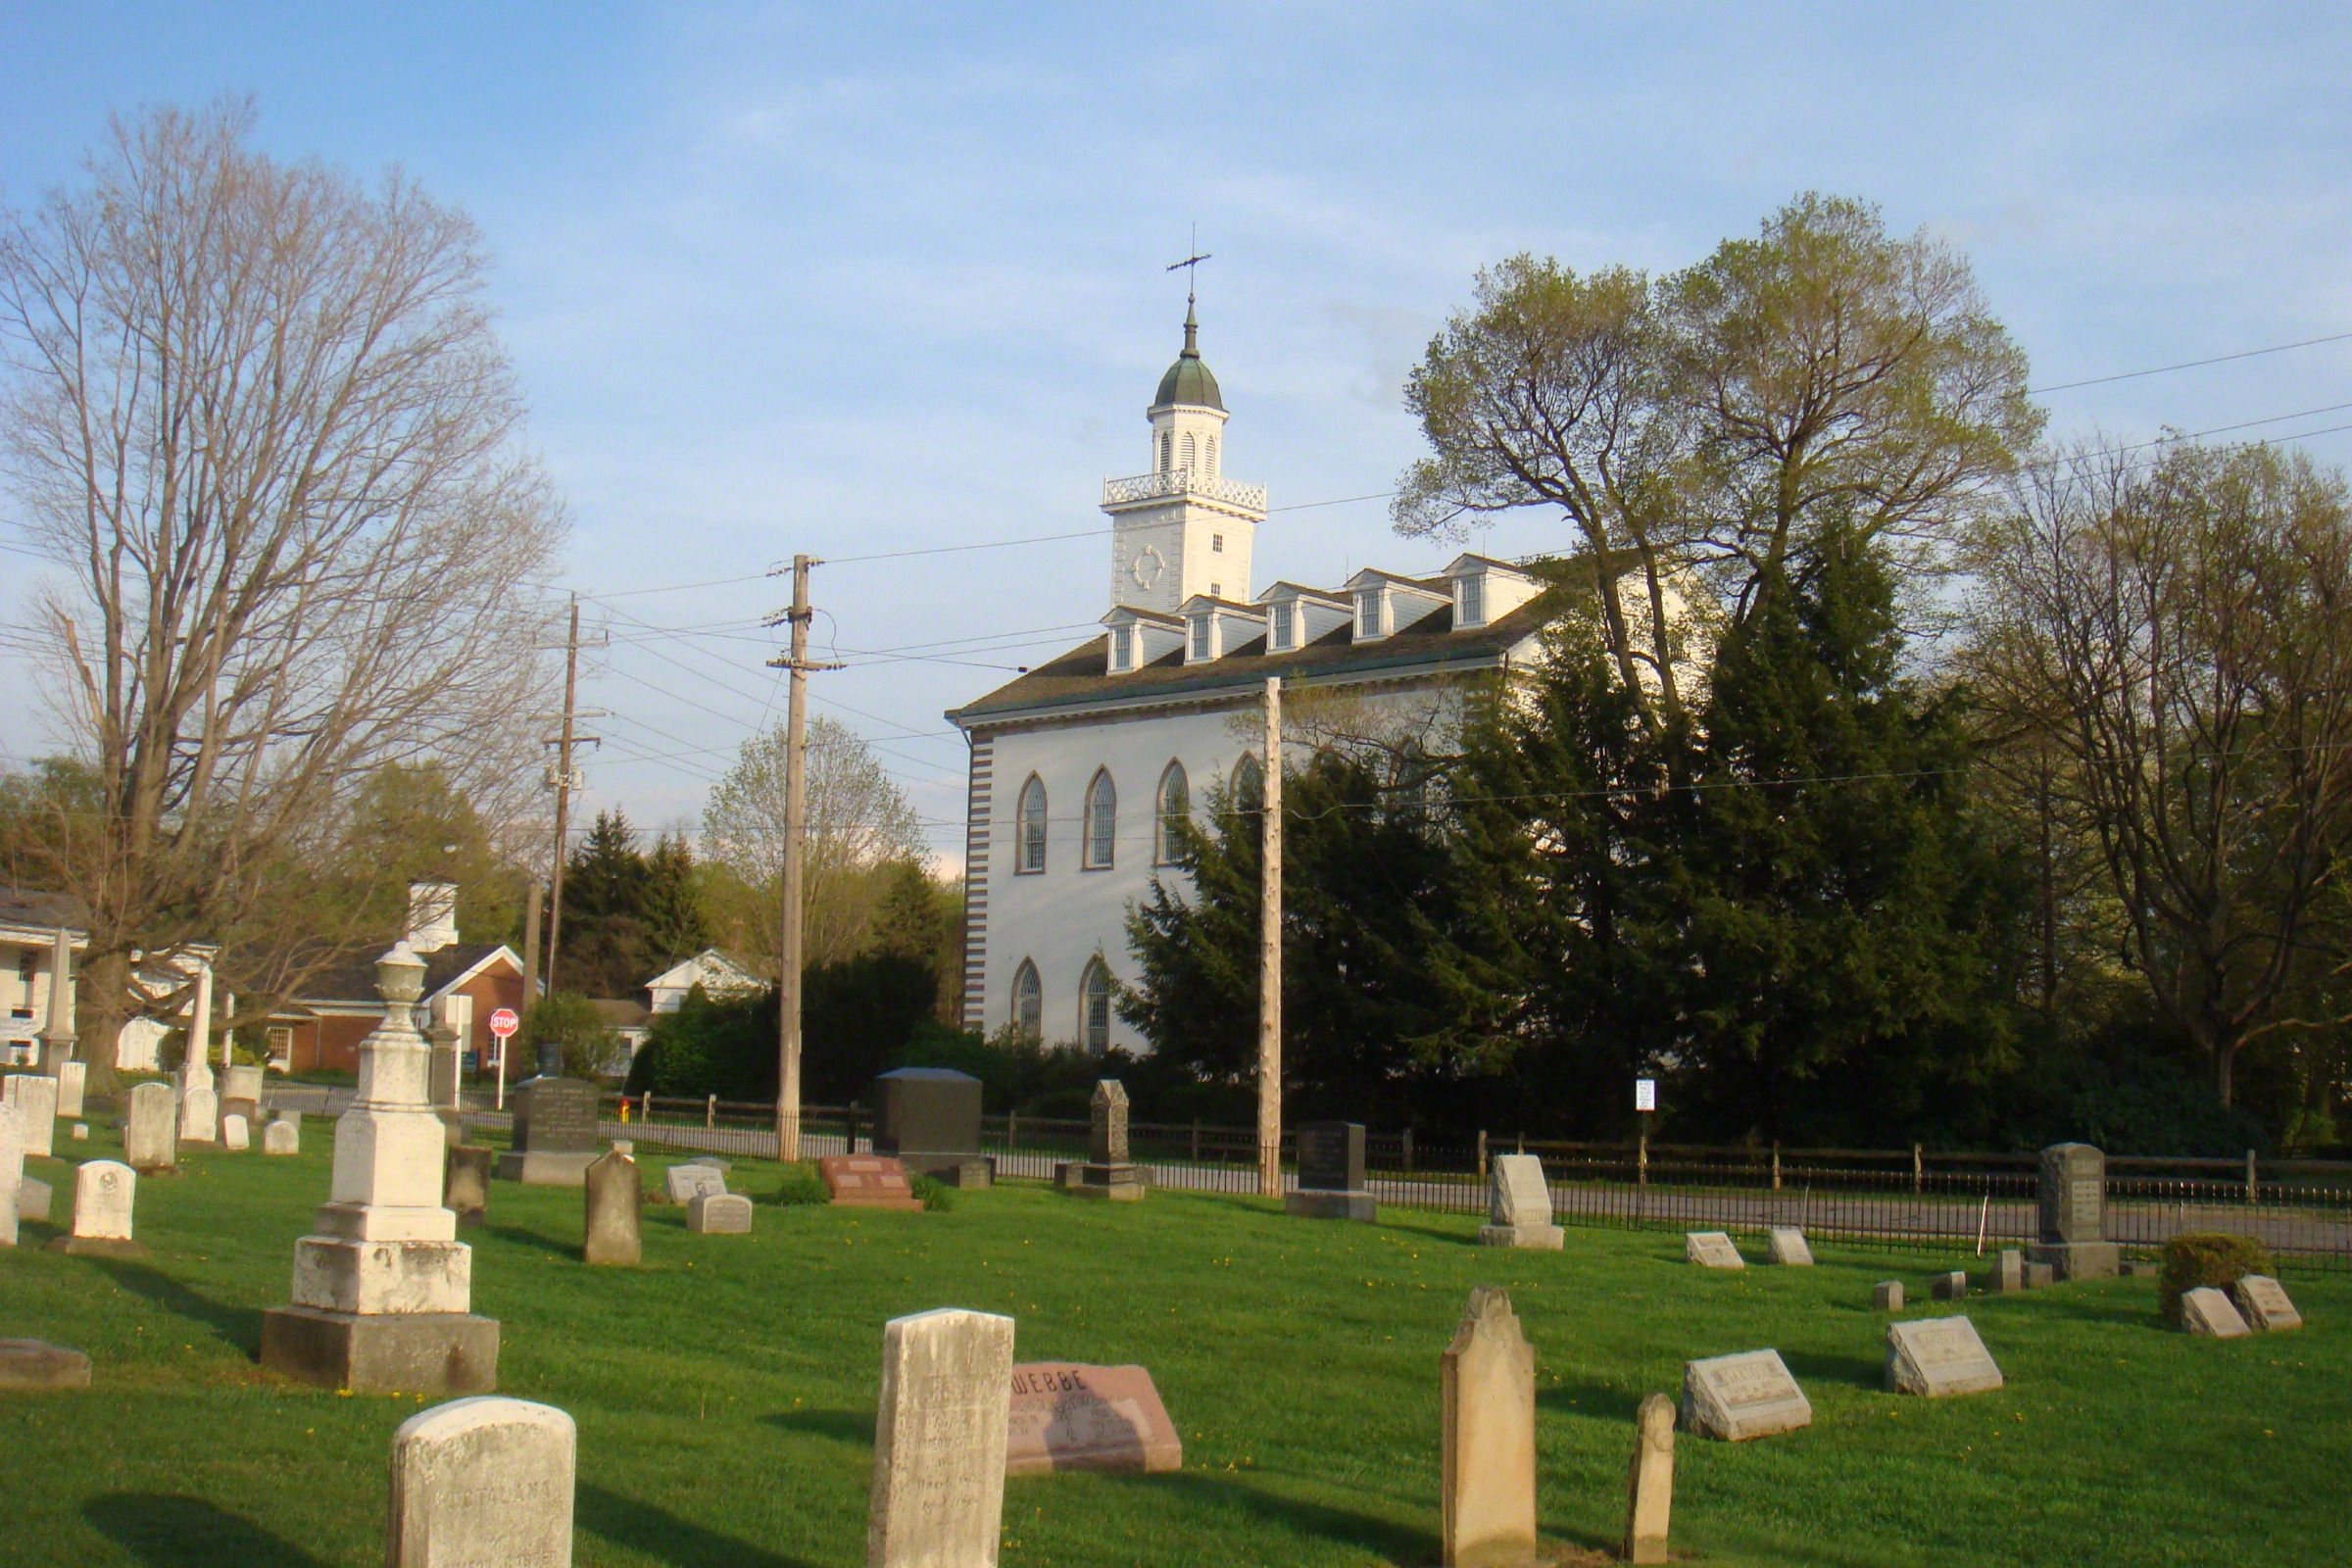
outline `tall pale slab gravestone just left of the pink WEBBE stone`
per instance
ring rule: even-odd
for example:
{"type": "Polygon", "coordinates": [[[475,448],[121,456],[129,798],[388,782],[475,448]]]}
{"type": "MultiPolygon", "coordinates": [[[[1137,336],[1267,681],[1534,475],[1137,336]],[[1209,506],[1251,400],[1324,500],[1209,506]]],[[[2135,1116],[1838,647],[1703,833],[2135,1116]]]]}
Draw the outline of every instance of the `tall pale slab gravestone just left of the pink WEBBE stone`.
{"type": "Polygon", "coordinates": [[[866,1568],[995,1568],[1014,1321],[943,1307],[882,1326],[866,1568]]]}

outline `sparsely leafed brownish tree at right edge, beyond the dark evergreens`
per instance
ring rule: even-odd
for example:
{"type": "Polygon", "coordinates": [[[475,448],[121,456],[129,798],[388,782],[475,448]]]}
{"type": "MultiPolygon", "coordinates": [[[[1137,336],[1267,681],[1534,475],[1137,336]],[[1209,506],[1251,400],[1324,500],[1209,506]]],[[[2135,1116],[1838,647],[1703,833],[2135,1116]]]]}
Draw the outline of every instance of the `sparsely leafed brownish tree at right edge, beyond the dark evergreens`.
{"type": "Polygon", "coordinates": [[[2211,1060],[2326,1023],[2352,842],[2352,517],[2267,447],[2077,451],[1985,529],[1973,675],[2096,835],[2124,950],[2211,1060]]]}

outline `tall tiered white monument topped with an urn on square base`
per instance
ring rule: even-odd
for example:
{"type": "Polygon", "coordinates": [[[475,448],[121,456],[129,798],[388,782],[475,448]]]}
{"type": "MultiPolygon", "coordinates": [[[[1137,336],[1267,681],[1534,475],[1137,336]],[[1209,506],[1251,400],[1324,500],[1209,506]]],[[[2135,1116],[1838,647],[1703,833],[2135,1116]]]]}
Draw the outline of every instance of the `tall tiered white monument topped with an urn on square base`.
{"type": "Polygon", "coordinates": [[[442,1208],[442,1124],[416,1032],[426,966],[376,961],[383,1027],[360,1041],[360,1098],[334,1124],[334,1187],[294,1244],[294,1305],[261,1314],[261,1363],[358,1392],[485,1394],[499,1324],[470,1312],[473,1248],[442,1208]]]}

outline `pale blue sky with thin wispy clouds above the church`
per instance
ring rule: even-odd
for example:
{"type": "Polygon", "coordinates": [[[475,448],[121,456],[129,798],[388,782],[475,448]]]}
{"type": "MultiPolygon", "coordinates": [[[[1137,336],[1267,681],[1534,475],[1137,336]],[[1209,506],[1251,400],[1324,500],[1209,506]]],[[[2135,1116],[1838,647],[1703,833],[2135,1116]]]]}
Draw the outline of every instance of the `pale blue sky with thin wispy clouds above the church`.
{"type": "MultiPolygon", "coordinates": [[[[1804,188],[1966,249],[2037,386],[2352,334],[2345,7],[228,9],[0,0],[0,197],[73,179],[111,110],[252,92],[270,150],[461,202],[572,508],[564,583],[614,632],[588,806],[647,825],[781,717],[783,588],[635,590],[1101,524],[1192,223],[1225,468],[1277,508],[1395,482],[1404,374],[1477,266],[1675,268],[1804,188]]],[[[2352,404],[2352,341],[2046,402],[2117,440],[2352,425],[2274,421],[2352,404]]],[[[2352,461],[2352,433],[2307,444],[2352,461]]],[[[1559,541],[1529,517],[1484,548],[1559,541]]],[[[1256,564],[1442,557],[1374,498],[1277,512],[1256,564]]],[[[953,858],[941,710],[1084,635],[1108,541],[842,562],[816,602],[854,665],[818,712],[953,858]]],[[[21,686],[12,755],[45,745],[21,686]]]]}

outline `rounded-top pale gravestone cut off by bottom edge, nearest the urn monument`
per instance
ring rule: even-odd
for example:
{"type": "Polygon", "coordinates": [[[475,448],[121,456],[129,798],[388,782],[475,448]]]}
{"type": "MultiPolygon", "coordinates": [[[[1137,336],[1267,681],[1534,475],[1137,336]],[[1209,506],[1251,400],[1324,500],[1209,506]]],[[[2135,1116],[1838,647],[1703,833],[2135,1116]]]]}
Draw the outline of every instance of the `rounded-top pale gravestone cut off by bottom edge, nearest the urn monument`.
{"type": "Polygon", "coordinates": [[[555,1406],[456,1399],[407,1418],[386,1566],[572,1568],[576,1465],[579,1432],[555,1406]]]}

